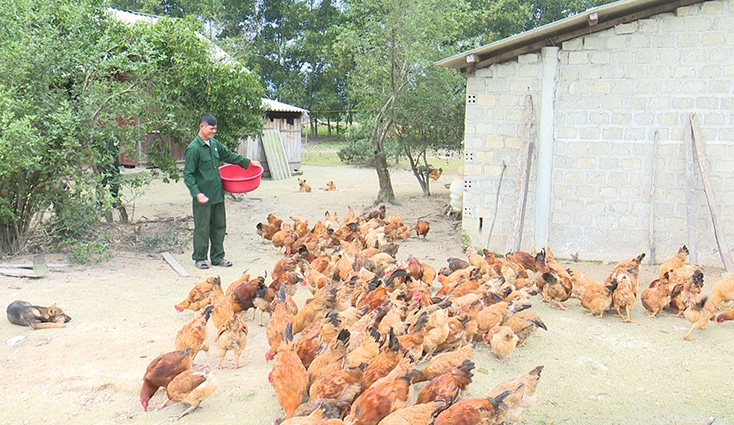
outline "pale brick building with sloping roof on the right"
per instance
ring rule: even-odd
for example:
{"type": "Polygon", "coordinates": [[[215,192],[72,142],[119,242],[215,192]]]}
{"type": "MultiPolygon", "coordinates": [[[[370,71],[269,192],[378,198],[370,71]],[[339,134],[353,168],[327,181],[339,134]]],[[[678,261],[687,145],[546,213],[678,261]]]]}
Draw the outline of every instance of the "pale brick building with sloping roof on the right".
{"type": "Polygon", "coordinates": [[[660,262],[686,244],[691,262],[722,265],[734,234],[733,0],[618,1],[438,64],[467,76],[472,245],[660,262]]]}

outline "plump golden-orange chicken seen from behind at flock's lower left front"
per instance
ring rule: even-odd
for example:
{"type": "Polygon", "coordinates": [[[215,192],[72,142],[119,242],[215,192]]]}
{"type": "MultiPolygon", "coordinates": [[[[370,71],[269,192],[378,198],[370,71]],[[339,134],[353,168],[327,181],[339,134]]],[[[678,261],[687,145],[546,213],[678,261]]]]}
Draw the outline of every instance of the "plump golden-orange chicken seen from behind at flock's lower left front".
{"type": "Polygon", "coordinates": [[[289,419],[303,402],[308,391],[308,373],[293,350],[293,324],[291,323],[285,328],[283,343],[278,346],[278,353],[273,361],[273,370],[268,380],[275,389],[275,398],[285,411],[284,418],[289,419]]]}

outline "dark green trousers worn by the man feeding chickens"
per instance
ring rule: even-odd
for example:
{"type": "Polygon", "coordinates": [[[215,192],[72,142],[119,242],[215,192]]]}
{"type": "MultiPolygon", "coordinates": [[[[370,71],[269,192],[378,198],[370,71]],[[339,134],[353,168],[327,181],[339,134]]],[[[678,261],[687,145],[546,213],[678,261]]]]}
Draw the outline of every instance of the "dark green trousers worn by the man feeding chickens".
{"type": "Polygon", "coordinates": [[[219,264],[224,258],[224,234],[227,231],[227,215],[224,202],[217,204],[200,204],[194,198],[194,261],[207,259],[207,251],[211,243],[208,257],[212,264],[219,264]]]}

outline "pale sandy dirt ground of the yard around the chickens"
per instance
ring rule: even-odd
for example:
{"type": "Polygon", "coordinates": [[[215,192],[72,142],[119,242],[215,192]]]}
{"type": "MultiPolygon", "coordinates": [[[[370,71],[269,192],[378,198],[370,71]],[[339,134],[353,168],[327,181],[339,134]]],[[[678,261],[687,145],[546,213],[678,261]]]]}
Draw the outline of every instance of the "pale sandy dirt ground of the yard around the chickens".
{"type": "MultiPolygon", "coordinates": [[[[159,253],[139,251],[118,252],[97,265],[52,269],[41,279],[0,277],[3,305],[16,299],[39,305],[56,302],[73,318],[63,329],[37,331],[0,321],[0,341],[4,342],[0,346],[0,424],[160,424],[180,413],[181,405],[144,412],[139,402],[146,366],[157,355],[173,350],[176,332],[191,319],[190,312],[179,314],[173,305],[209,275],[220,275],[226,285],[244,270],[270,273],[280,256],[255,233],[257,222],[270,212],[286,218],[298,215],[313,223],[326,210],[342,215],[348,207],[357,212],[372,208],[377,194],[374,170],[303,168],[312,193],[294,193],[297,183],[293,177],[264,180],[257,191],[239,202],[227,198],[225,248],[227,258],[235,264],[232,268],[195,269],[189,238],[185,248],[173,255],[190,277],[179,277],[159,253]],[[317,190],[328,180],[336,182],[336,192],[317,190]]],[[[424,198],[409,172],[393,172],[402,205],[388,206],[388,211],[406,222],[422,217],[431,223],[427,240],[413,236],[404,241],[398,259],[411,253],[439,268],[449,256],[462,255],[460,227],[444,214],[448,202],[444,184],[454,177],[444,174],[433,185],[434,196],[424,198]]],[[[146,234],[152,225],[145,220],[179,218],[184,228],[192,229],[186,218],[191,214],[190,205],[183,182],[157,182],[136,202],[133,234],[146,234]]],[[[630,257],[638,253],[630,252],[630,257]]],[[[570,258],[569,253],[556,255],[570,258]]],[[[65,261],[60,256],[47,260],[65,261]]],[[[618,260],[610,258],[609,264],[561,262],[601,280],[618,260]]],[[[4,259],[29,261],[29,257],[4,259]]],[[[653,280],[656,270],[656,266],[644,265],[641,287],[653,280]]],[[[711,284],[722,273],[705,270],[705,293],[710,293],[711,284]]],[[[306,292],[301,289],[296,300],[303,303],[306,292]]],[[[649,319],[639,301],[632,310],[634,324],[622,323],[614,314],[603,319],[588,317],[576,299],[566,305],[569,311],[557,311],[534,300],[533,309],[548,331],[539,330],[505,363],[495,360],[487,346],[478,345],[477,371],[467,396],[480,396],[497,382],[542,364],[538,401],[525,416],[527,424],[704,424],[712,418],[717,425],[734,423],[734,405],[725,389],[734,370],[734,324],[712,323],[707,330],[694,332],[692,341],[684,341],[681,336],[688,321],[667,313],[649,319]]],[[[218,372],[218,389],[182,422],[269,424],[282,415],[267,380],[272,364],[263,355],[265,329],[254,321],[249,322],[249,330],[241,367],[232,369],[229,353],[225,369],[218,372]]],[[[213,366],[217,360],[212,350],[208,362],[213,366]]],[[[205,367],[206,354],[200,354],[194,364],[205,367]]],[[[159,391],[151,406],[164,399],[165,393],[159,391]]]]}

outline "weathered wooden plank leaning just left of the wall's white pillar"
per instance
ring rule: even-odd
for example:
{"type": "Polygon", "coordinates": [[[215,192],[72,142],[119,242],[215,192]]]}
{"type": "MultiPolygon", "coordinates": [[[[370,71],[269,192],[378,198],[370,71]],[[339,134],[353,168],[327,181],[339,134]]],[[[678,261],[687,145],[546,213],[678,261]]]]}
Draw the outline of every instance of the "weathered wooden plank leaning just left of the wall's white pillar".
{"type": "Polygon", "coordinates": [[[517,179],[515,180],[515,196],[512,199],[510,214],[510,229],[507,236],[507,252],[517,251],[522,243],[522,228],[525,223],[525,203],[528,197],[528,182],[530,181],[530,163],[534,143],[532,141],[533,127],[533,97],[525,95],[525,109],[522,117],[522,144],[520,158],[517,161],[517,179]]]}

